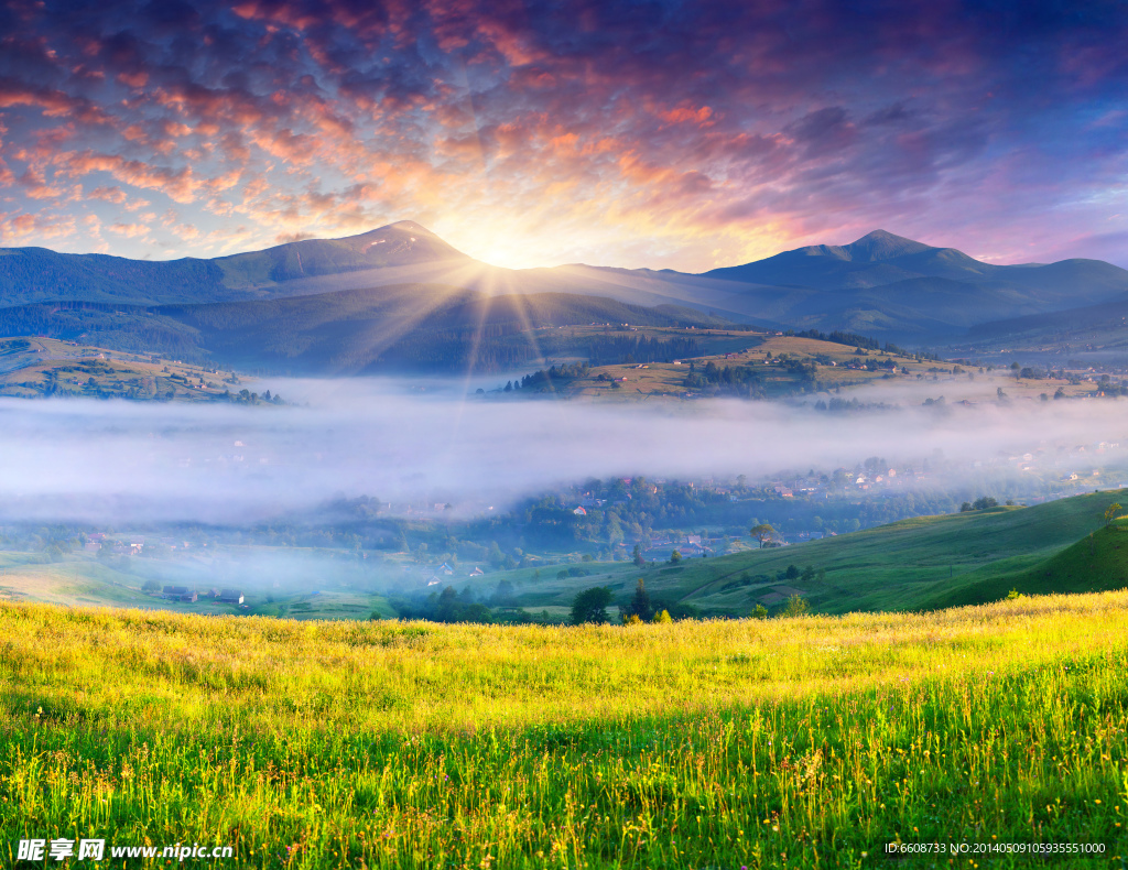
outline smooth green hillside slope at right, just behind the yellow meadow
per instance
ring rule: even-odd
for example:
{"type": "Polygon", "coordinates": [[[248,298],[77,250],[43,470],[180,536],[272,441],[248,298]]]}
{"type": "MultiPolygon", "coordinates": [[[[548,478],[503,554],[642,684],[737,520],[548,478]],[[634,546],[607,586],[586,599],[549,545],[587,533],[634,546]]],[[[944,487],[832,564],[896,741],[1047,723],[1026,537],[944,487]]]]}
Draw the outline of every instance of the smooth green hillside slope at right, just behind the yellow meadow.
{"type": "MultiPolygon", "coordinates": [[[[597,565],[596,570],[610,570],[613,575],[627,580],[641,575],[652,595],[676,597],[717,615],[748,615],[759,597],[779,583],[802,588],[814,609],[829,614],[979,604],[1005,596],[1016,573],[1032,569],[1100,528],[1104,509],[1113,501],[1125,501],[1126,495],[1123,490],[1110,490],[1030,508],[1001,507],[917,517],[787,547],[684,560],[682,570],[676,573],[663,564],[641,572],[629,566],[597,565]],[[792,564],[825,571],[825,578],[777,581],[776,575],[792,564]],[[769,579],[757,579],[760,575],[769,579]],[[994,590],[992,596],[945,599],[937,604],[937,596],[946,589],[996,578],[1005,579],[982,587],[994,590]],[[741,580],[747,580],[748,586],[740,586],[741,580]]],[[[594,586],[585,582],[589,579],[573,578],[566,586],[572,589],[594,586]]],[[[1036,591],[1089,591],[1123,585],[1093,587],[1078,573],[1067,577],[1067,572],[1059,572],[1052,582],[1041,585],[1036,591]]],[[[628,582],[628,589],[633,589],[633,583],[628,582]]],[[[532,589],[519,591],[522,603],[535,608],[537,598],[532,589]]],[[[561,589],[555,599],[563,596],[561,589]]]]}

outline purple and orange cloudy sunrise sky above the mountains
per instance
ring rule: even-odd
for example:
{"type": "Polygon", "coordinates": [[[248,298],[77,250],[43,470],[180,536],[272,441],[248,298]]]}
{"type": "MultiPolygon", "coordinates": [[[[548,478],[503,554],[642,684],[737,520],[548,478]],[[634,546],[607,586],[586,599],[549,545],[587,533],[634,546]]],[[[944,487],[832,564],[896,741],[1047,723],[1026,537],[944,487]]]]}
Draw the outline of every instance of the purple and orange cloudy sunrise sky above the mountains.
{"type": "Polygon", "coordinates": [[[1101,0],[3,0],[0,245],[1128,266],[1126,44],[1101,0]]]}

